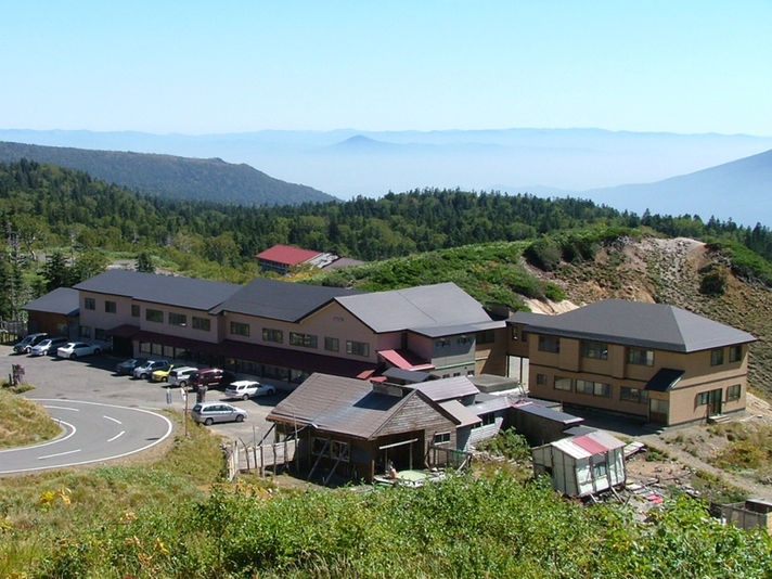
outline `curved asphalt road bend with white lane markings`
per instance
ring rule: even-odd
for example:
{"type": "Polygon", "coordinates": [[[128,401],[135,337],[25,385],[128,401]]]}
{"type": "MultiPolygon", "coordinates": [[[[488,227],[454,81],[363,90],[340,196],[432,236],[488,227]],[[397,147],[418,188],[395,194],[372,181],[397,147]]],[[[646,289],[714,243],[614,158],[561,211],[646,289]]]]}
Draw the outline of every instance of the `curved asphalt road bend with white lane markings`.
{"type": "Polygon", "coordinates": [[[138,408],[63,399],[34,399],[64,430],[41,445],[0,451],[0,475],[119,459],[171,434],[171,422],[138,408]]]}

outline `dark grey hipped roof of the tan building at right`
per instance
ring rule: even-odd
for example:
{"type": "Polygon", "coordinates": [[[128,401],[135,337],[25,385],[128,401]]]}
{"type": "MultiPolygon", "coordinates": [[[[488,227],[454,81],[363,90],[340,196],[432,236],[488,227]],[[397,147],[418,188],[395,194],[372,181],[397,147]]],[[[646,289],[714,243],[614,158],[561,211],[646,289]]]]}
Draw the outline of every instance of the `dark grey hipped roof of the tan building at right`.
{"type": "Polygon", "coordinates": [[[693,352],[756,338],[732,326],[664,304],[606,299],[557,316],[516,312],[511,323],[527,332],[693,352]]]}

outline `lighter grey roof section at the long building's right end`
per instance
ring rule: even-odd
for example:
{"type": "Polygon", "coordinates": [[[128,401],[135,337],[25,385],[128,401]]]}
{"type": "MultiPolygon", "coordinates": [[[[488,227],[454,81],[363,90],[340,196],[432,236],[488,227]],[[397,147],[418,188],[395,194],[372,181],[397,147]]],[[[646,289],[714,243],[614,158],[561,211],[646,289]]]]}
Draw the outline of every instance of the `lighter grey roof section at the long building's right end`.
{"type": "MultiPolygon", "coordinates": [[[[483,306],[454,283],[337,297],[340,306],[373,332],[450,327],[490,322],[483,306]]],[[[442,334],[450,335],[450,334],[442,334]]]]}

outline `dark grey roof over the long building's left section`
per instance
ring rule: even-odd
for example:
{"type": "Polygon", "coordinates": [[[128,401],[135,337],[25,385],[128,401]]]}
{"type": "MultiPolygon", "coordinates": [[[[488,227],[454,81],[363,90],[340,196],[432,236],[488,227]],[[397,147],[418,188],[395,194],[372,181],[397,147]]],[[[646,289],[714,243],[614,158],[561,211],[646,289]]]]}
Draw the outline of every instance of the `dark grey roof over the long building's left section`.
{"type": "Polygon", "coordinates": [[[126,296],[196,310],[209,310],[241,290],[241,285],[233,283],[124,269],[107,270],[74,287],[83,292],[126,296]]]}

